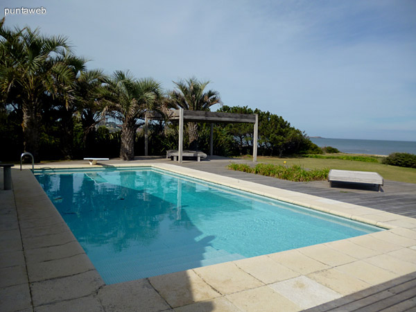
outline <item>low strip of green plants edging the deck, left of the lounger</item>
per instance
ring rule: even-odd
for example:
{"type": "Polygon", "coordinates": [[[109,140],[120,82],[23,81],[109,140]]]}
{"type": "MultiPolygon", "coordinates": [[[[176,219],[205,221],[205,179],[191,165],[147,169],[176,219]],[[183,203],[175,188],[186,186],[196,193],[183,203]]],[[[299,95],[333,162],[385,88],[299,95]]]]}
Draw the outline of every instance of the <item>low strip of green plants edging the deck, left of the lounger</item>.
{"type": "Polygon", "coordinates": [[[235,171],[247,173],[256,173],[257,175],[266,175],[268,177],[277,177],[281,180],[290,180],[295,182],[322,181],[327,180],[329,169],[307,171],[301,166],[293,165],[290,167],[274,164],[257,164],[252,167],[247,164],[229,164],[228,168],[235,171]]]}

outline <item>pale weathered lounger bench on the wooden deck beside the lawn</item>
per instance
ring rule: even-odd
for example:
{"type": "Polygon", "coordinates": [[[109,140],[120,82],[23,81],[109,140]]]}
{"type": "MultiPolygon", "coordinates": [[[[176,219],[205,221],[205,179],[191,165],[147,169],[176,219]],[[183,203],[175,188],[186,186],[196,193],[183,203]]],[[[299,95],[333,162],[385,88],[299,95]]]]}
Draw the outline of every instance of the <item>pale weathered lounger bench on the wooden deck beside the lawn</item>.
{"type": "Polygon", "coordinates": [[[378,185],[379,191],[381,185],[384,185],[384,180],[379,173],[367,171],[348,171],[331,169],[328,175],[329,185],[332,187],[332,182],[351,182],[378,185]]]}

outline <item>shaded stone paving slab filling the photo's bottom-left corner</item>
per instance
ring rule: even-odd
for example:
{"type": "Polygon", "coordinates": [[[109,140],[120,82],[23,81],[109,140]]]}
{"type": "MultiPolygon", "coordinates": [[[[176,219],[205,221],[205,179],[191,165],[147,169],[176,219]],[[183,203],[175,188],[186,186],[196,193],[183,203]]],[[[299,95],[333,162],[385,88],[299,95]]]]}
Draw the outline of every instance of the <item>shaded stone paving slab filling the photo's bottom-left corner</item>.
{"type": "Polygon", "coordinates": [[[24,309],[32,309],[31,291],[27,283],[0,288],[0,311],[14,312],[24,309]]]}

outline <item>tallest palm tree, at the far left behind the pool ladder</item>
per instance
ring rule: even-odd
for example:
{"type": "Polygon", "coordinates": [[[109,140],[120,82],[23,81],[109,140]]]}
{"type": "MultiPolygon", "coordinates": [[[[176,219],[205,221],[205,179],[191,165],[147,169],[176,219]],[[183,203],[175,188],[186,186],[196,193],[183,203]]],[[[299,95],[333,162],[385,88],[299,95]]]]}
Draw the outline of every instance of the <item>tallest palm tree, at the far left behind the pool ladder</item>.
{"type": "Polygon", "coordinates": [[[73,100],[73,71],[59,60],[70,52],[67,38],[44,37],[31,28],[12,31],[0,23],[0,93],[23,112],[24,150],[39,160],[41,114],[46,98],[73,100]]]}

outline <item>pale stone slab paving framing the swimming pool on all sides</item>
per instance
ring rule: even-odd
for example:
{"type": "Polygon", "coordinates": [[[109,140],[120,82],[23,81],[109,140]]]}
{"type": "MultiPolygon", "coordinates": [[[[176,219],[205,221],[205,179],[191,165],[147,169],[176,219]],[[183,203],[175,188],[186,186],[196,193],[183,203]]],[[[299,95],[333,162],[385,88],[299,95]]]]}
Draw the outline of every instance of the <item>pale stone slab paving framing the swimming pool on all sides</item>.
{"type": "MultiPolygon", "coordinates": [[[[10,197],[7,232],[14,243],[6,246],[6,252],[19,264],[1,266],[14,280],[0,285],[0,297],[19,291],[24,297],[21,302],[26,302],[19,309],[33,306],[35,311],[77,311],[80,307],[84,311],[275,311],[277,306],[281,311],[300,311],[416,272],[415,218],[174,164],[116,166],[160,168],[387,230],[105,285],[35,177],[28,170],[13,170],[14,191],[4,192],[10,197]]],[[[48,167],[102,168],[62,163],[48,167]]]]}

